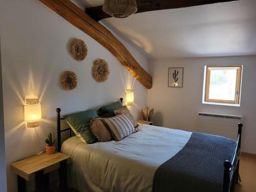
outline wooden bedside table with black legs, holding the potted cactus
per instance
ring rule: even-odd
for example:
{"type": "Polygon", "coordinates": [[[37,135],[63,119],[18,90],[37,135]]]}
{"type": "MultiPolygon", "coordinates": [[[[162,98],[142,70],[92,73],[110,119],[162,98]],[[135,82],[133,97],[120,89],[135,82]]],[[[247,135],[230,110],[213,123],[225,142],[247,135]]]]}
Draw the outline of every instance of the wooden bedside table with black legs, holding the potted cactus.
{"type": "Polygon", "coordinates": [[[26,180],[33,179],[37,192],[49,191],[49,173],[56,169],[59,169],[60,191],[67,191],[67,161],[70,159],[62,153],[43,153],[12,163],[11,170],[17,174],[18,192],[25,192],[26,180]]]}

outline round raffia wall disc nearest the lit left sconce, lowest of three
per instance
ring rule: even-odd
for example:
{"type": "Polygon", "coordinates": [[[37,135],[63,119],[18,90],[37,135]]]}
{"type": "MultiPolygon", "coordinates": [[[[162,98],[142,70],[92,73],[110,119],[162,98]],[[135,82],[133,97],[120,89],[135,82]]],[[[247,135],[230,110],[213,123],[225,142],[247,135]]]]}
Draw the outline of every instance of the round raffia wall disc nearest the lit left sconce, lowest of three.
{"type": "Polygon", "coordinates": [[[73,90],[77,86],[77,76],[73,71],[65,71],[61,74],[60,83],[63,89],[73,90]]]}

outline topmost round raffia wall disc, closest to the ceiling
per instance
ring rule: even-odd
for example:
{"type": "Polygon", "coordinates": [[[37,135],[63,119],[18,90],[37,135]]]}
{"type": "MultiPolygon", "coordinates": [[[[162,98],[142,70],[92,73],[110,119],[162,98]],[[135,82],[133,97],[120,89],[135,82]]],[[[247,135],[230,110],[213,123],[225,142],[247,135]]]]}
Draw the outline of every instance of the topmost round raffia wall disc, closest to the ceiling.
{"type": "Polygon", "coordinates": [[[75,39],[71,45],[71,52],[76,60],[83,60],[87,56],[86,43],[81,39],[75,39]]]}

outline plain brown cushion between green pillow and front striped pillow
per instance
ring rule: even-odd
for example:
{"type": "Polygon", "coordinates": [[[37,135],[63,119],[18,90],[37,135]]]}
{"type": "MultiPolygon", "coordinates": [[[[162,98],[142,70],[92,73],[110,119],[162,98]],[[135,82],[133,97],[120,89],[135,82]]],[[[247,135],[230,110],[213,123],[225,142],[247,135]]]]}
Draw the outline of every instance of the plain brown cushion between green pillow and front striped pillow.
{"type": "Polygon", "coordinates": [[[99,141],[106,142],[113,139],[108,126],[105,124],[102,118],[96,117],[91,119],[91,131],[99,141]]]}

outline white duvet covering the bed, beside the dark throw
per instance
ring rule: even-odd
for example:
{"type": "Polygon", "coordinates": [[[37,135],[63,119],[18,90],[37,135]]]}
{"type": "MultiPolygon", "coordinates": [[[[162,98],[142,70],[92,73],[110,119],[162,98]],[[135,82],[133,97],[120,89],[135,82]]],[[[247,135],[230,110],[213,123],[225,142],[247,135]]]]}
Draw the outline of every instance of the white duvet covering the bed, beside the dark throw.
{"type": "Polygon", "coordinates": [[[121,141],[83,143],[78,137],[63,142],[61,152],[72,157],[69,186],[80,192],[152,191],[157,168],[177,154],[191,132],[140,124],[121,141]]]}

